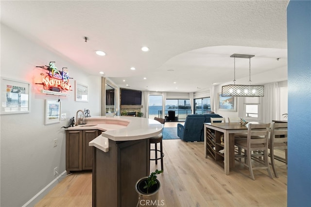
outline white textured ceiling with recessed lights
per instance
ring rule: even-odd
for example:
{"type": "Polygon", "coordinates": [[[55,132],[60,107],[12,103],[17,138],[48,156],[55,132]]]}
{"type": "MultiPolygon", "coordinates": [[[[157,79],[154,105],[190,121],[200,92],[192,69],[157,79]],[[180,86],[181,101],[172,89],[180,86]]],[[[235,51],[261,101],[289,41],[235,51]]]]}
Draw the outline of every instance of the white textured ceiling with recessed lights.
{"type": "MultiPolygon", "coordinates": [[[[255,55],[254,84],[287,79],[288,0],[0,3],[3,24],[121,87],[195,92],[230,82],[233,53],[255,55]]],[[[236,66],[248,80],[248,60],[236,66]]]]}

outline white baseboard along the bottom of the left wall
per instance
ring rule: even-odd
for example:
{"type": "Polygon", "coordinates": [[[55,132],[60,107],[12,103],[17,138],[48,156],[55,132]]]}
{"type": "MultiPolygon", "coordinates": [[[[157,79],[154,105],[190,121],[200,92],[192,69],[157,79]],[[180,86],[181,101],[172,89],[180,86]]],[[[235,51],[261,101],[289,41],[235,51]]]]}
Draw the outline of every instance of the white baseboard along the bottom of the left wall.
{"type": "Polygon", "coordinates": [[[50,192],[60,181],[62,181],[67,172],[64,171],[60,175],[58,175],[51,183],[49,183],[46,187],[40,190],[32,199],[30,199],[27,203],[25,203],[22,207],[33,207],[36,203],[38,203],[46,194],[50,192]]]}

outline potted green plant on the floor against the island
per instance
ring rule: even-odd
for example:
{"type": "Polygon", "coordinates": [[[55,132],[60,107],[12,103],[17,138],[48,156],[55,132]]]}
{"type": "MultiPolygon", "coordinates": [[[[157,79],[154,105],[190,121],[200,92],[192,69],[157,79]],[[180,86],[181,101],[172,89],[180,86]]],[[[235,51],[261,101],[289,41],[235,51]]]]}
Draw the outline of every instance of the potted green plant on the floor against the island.
{"type": "Polygon", "coordinates": [[[144,206],[148,203],[148,206],[156,207],[158,204],[158,192],[160,190],[160,182],[156,179],[156,175],[162,173],[162,171],[155,170],[147,177],[140,178],[135,190],[138,193],[138,205],[144,206]]]}

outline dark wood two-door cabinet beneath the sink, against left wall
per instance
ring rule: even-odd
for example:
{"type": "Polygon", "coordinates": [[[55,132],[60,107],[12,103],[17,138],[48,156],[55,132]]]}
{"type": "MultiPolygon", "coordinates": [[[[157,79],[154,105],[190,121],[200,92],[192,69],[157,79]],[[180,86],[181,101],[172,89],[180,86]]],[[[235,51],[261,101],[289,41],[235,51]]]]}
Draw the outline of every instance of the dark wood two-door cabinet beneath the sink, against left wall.
{"type": "Polygon", "coordinates": [[[66,171],[93,169],[93,149],[88,142],[100,135],[97,129],[66,131],[66,171]]]}

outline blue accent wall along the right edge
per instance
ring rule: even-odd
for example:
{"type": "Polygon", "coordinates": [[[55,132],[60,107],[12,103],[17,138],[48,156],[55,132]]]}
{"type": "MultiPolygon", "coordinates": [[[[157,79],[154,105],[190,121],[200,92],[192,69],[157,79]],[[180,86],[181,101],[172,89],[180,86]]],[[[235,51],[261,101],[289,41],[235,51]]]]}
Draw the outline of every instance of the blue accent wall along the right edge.
{"type": "Polygon", "coordinates": [[[311,207],[311,1],[291,0],[288,38],[288,207],[311,207]]]}

